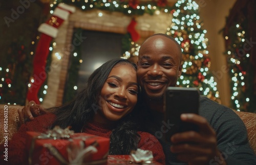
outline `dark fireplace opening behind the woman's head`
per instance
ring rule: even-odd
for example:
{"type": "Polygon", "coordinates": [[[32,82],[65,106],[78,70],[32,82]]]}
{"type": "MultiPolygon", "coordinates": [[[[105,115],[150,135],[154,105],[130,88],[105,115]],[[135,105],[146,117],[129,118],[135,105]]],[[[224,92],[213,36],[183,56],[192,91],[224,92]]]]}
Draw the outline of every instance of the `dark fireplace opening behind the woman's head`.
{"type": "MultiPolygon", "coordinates": [[[[76,61],[79,61],[80,67],[79,70],[74,71],[77,65],[72,64],[74,60],[69,61],[69,72],[67,73],[62,103],[70,101],[78,92],[84,89],[89,76],[95,69],[108,60],[121,57],[121,41],[124,36],[123,34],[88,30],[79,30],[79,33],[79,36],[82,37],[83,40],[78,44],[79,52],[75,52],[74,50],[71,54],[71,58],[75,58],[76,61]],[[77,53],[80,53],[79,59],[76,58],[77,53]],[[74,88],[76,90],[74,90],[74,88]]],[[[77,34],[74,33],[74,35],[77,34]]],[[[75,36],[73,36],[73,38],[75,38],[75,36]]],[[[78,62],[75,63],[77,64],[78,62]]]]}

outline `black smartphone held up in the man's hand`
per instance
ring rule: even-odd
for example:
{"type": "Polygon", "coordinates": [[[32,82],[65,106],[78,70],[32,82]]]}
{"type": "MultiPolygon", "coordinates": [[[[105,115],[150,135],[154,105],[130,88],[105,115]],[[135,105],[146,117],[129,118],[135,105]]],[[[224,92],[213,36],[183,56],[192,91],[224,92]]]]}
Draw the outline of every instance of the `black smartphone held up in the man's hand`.
{"type": "Polygon", "coordinates": [[[184,113],[198,114],[199,91],[196,88],[168,87],[164,94],[164,117],[169,129],[165,130],[165,139],[178,132],[199,131],[193,123],[182,122],[180,115],[184,113]]]}

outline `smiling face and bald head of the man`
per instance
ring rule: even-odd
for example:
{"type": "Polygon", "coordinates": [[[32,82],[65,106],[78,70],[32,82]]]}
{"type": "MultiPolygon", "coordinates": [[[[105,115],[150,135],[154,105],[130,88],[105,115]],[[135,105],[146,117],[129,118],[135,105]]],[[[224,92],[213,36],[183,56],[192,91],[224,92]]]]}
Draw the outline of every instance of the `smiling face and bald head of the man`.
{"type": "Polygon", "coordinates": [[[140,47],[137,76],[143,92],[151,99],[162,98],[181,75],[181,50],[164,36],[148,38],[140,47]]]}

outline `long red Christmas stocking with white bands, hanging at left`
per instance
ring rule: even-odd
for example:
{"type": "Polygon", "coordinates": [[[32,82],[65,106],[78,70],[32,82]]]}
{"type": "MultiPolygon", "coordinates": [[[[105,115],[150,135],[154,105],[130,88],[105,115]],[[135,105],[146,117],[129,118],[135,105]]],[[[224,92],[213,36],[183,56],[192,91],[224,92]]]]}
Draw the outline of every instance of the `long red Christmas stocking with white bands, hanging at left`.
{"type": "Polygon", "coordinates": [[[49,46],[53,38],[56,38],[58,33],[59,26],[68,19],[70,13],[75,12],[75,7],[59,4],[58,7],[54,10],[51,18],[46,21],[46,23],[42,23],[38,31],[41,32],[40,40],[37,44],[35,56],[33,60],[33,80],[31,81],[31,87],[28,89],[27,100],[35,101],[39,104],[39,99],[37,97],[38,91],[41,85],[47,78],[47,74],[45,71],[46,60],[49,54],[49,46]]]}

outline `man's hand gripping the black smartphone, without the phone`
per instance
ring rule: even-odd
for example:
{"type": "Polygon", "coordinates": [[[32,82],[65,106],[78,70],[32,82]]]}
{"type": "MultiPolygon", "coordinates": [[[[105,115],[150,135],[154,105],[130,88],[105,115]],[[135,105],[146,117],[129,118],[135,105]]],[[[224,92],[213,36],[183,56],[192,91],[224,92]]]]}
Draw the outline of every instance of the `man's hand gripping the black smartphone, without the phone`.
{"type": "Polygon", "coordinates": [[[226,164],[217,148],[217,138],[214,129],[205,118],[197,114],[182,114],[181,120],[199,126],[199,131],[184,131],[170,137],[170,151],[177,154],[177,159],[188,164],[209,164],[211,159],[219,158],[221,164],[226,164]]]}

